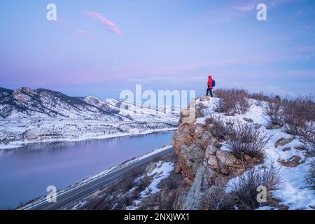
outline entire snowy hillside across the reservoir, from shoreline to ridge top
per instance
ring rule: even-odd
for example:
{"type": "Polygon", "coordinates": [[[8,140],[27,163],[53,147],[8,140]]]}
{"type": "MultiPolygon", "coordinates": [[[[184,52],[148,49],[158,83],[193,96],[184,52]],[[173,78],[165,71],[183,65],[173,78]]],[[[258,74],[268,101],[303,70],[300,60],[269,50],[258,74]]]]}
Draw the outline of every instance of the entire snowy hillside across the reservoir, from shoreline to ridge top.
{"type": "Polygon", "coordinates": [[[82,140],[174,130],[163,113],[117,99],[69,97],[52,90],[0,88],[0,148],[36,141],[82,140]]]}

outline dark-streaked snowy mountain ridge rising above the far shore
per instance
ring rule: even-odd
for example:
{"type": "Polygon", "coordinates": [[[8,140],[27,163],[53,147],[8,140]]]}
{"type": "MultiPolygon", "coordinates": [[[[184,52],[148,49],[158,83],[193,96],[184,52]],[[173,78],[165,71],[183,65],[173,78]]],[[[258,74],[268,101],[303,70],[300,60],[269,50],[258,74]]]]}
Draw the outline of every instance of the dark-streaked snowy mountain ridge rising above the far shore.
{"type": "Polygon", "coordinates": [[[128,110],[133,104],[117,99],[69,97],[62,92],[20,87],[8,90],[0,87],[0,118],[72,118],[100,120],[163,120],[169,115],[144,108],[128,110]],[[121,104],[125,104],[121,109],[121,104]]]}

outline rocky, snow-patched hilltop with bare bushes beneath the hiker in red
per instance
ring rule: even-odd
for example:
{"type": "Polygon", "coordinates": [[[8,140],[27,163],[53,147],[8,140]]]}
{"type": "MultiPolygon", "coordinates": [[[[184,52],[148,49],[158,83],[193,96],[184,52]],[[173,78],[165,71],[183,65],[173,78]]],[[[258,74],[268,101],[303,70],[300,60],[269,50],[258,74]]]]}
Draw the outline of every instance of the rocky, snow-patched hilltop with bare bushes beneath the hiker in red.
{"type": "Polygon", "coordinates": [[[179,189],[174,209],[315,209],[314,101],[223,91],[216,92],[221,98],[198,98],[197,119],[174,132],[181,186],[188,186],[179,189]],[[268,113],[281,118],[280,125],[268,113]],[[288,134],[292,130],[298,133],[288,134]]]}

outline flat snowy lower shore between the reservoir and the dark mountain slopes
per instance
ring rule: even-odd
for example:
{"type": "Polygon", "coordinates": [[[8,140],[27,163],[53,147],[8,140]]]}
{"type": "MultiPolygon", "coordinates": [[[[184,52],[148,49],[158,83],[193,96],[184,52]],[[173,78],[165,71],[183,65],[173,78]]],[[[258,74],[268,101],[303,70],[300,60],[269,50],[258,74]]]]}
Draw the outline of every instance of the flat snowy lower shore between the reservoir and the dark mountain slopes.
{"type": "Polygon", "coordinates": [[[148,123],[55,118],[2,119],[0,120],[0,150],[19,148],[36,142],[83,141],[165,132],[176,130],[176,122],[176,118],[173,117],[163,122],[148,123]]]}

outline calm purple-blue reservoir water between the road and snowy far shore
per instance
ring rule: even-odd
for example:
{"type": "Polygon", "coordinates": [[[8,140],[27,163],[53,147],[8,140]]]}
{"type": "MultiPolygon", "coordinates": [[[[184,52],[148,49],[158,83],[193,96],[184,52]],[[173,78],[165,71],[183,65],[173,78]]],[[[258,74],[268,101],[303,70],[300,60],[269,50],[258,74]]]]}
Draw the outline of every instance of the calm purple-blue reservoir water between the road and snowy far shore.
{"type": "Polygon", "coordinates": [[[46,195],[48,186],[62,189],[121,162],[169,145],[173,132],[113,139],[28,144],[1,151],[0,209],[46,195]]]}

